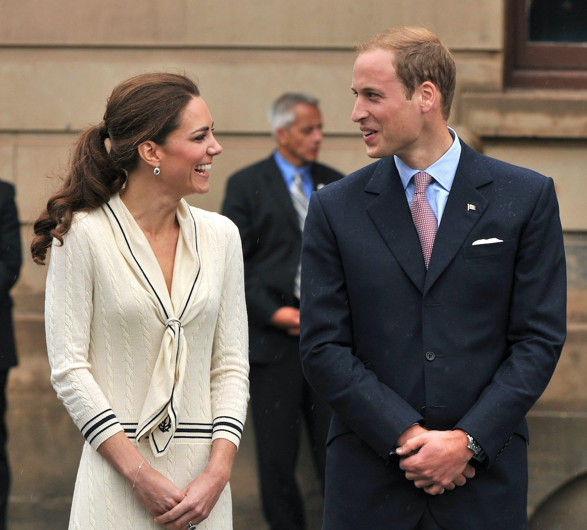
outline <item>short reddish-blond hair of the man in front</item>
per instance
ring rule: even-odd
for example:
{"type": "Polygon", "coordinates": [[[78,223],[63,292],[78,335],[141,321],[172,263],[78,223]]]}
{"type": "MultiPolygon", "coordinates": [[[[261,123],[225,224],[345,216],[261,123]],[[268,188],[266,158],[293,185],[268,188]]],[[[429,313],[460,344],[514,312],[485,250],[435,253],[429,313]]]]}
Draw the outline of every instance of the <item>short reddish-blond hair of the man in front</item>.
{"type": "Polygon", "coordinates": [[[443,117],[448,120],[457,69],[453,54],[438,35],[426,28],[406,26],[387,29],[355,46],[359,53],[376,49],[394,53],[393,67],[405,88],[406,99],[411,99],[416,88],[424,81],[434,83],[442,96],[443,117]]]}

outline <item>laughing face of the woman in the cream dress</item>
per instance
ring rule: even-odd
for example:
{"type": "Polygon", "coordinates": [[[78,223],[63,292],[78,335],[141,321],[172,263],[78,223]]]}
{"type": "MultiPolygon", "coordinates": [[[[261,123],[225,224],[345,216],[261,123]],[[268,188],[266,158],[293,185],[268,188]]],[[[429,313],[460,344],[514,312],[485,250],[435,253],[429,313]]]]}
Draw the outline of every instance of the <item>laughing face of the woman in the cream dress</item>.
{"type": "Polygon", "coordinates": [[[207,193],[212,158],[222,147],[212,134],[212,117],[201,97],[193,97],[180,114],[180,125],[158,146],[161,178],[180,197],[207,193]]]}

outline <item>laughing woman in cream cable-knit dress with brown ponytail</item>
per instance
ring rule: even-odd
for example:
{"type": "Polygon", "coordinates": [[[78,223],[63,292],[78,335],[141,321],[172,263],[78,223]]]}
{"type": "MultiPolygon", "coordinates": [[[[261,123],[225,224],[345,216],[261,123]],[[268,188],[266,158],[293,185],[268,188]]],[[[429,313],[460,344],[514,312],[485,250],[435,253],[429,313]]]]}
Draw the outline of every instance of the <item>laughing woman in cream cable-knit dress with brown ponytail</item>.
{"type": "Polygon", "coordinates": [[[86,438],[69,528],[232,528],[248,400],[241,243],[183,199],[208,191],[212,126],[185,76],[120,83],[35,223],[35,262],[51,248],[51,380],[86,438]]]}

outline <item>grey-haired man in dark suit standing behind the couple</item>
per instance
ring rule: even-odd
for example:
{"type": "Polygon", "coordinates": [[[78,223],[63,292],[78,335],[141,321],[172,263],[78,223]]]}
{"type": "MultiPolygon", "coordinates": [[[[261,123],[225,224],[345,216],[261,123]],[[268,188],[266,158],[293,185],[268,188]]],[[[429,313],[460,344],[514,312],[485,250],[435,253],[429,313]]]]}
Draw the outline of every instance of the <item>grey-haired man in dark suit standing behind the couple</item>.
{"type": "Polygon", "coordinates": [[[273,530],[304,528],[295,480],[299,418],[306,420],[324,483],[331,411],[303,378],[299,359],[302,228],[313,190],[342,174],[316,162],[322,143],[318,100],[286,93],[269,117],[277,149],[230,178],[222,213],[241,232],[249,316],[251,409],[265,517],[273,530]]]}

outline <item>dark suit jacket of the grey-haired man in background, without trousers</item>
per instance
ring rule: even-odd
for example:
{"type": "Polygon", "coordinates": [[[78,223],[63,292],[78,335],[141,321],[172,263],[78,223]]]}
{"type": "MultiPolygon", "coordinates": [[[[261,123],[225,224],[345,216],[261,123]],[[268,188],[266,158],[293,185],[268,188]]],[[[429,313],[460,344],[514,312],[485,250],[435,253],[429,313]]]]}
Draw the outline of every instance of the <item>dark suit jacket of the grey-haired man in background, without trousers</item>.
{"type": "MultiPolygon", "coordinates": [[[[311,167],[313,189],[343,175],[323,164],[311,167]]],[[[228,180],[222,214],[238,227],[245,264],[245,295],[252,362],[274,363],[299,355],[299,339],[269,320],[282,306],[296,306],[294,279],[302,231],[279,167],[271,155],[228,180]]]]}

